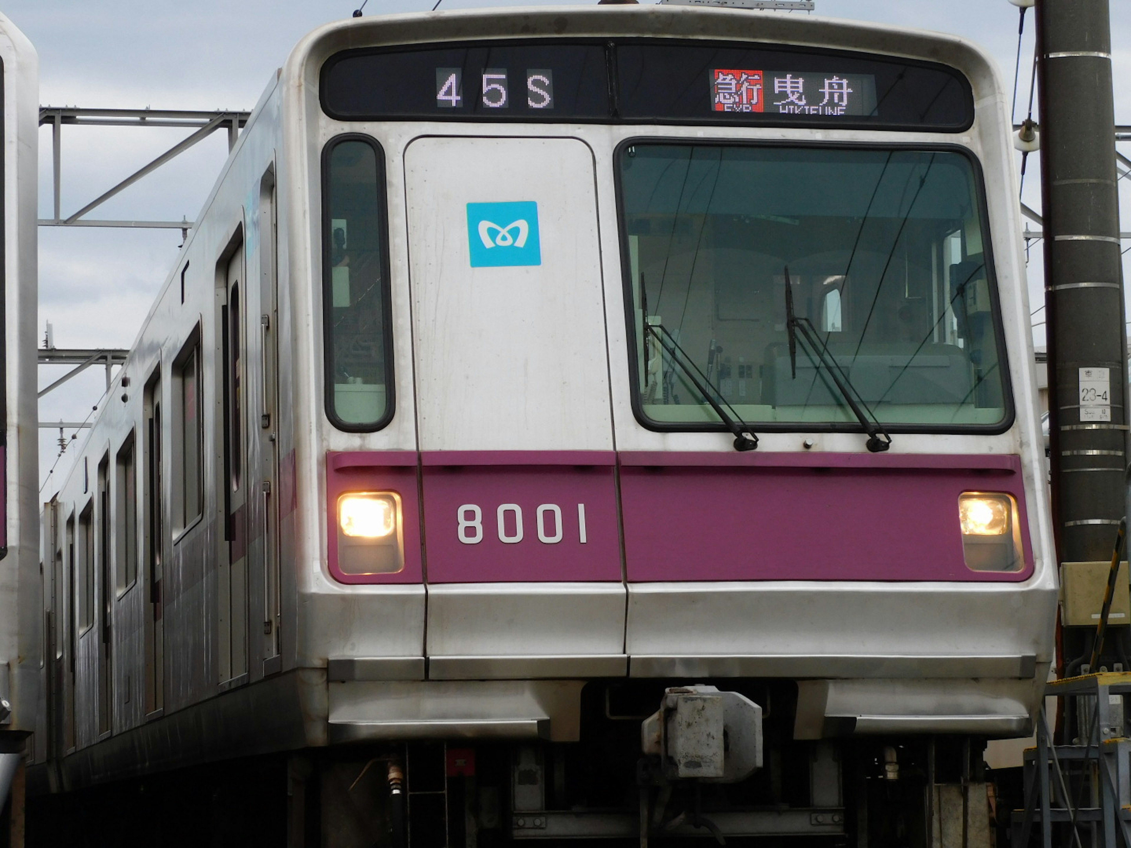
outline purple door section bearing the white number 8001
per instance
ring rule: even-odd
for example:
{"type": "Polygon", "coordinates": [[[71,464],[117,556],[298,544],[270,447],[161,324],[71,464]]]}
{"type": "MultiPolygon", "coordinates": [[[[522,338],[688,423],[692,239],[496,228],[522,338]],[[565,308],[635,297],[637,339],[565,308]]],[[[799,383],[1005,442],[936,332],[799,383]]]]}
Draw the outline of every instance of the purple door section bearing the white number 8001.
{"type": "Polygon", "coordinates": [[[425,451],[430,583],[619,581],[612,451],[425,451]]]}

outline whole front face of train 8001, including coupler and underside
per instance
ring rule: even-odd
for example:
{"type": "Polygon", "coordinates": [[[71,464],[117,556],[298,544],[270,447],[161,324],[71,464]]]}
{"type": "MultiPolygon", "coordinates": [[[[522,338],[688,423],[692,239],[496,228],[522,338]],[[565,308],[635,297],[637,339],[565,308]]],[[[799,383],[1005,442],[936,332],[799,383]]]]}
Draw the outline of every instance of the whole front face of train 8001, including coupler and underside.
{"type": "Polygon", "coordinates": [[[1055,604],[983,54],[619,6],[365,18],[284,72],[300,655],[411,841],[968,810],[1055,604]]]}

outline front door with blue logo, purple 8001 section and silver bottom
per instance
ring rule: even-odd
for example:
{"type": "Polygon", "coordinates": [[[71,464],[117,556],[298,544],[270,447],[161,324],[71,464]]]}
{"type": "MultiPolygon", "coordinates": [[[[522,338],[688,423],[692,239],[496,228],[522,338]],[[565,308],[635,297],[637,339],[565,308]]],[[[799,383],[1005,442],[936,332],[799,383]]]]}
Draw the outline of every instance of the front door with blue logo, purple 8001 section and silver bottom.
{"type": "Polygon", "coordinates": [[[405,180],[429,675],[623,673],[593,153],[421,138],[405,180]]]}

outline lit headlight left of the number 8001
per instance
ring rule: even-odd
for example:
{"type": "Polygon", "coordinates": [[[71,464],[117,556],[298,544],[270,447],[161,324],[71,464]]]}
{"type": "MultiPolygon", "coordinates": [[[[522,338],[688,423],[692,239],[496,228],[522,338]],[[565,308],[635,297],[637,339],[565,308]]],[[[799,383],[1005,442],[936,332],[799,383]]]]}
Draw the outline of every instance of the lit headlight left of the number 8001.
{"type": "Polygon", "coordinates": [[[346,574],[391,574],[404,568],[400,495],[348,492],[338,497],[338,568],[346,574]]]}

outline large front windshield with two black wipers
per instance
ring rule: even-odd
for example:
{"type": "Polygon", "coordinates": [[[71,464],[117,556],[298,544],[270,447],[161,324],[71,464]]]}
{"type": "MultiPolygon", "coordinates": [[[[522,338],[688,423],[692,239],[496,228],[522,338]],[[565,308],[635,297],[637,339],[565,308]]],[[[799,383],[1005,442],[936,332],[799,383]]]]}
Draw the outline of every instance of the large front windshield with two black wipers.
{"type": "Polygon", "coordinates": [[[993,277],[970,159],[958,152],[634,144],[622,232],[639,408],[719,422],[656,340],[663,328],[745,422],[860,422],[831,357],[884,425],[1001,426],[993,277]],[[808,319],[821,356],[786,331],[808,319]],[[793,361],[791,361],[793,358],[793,361]]]}

